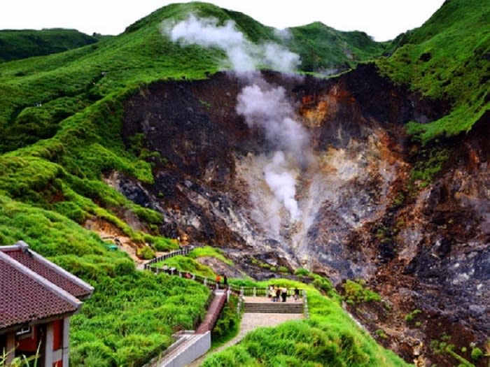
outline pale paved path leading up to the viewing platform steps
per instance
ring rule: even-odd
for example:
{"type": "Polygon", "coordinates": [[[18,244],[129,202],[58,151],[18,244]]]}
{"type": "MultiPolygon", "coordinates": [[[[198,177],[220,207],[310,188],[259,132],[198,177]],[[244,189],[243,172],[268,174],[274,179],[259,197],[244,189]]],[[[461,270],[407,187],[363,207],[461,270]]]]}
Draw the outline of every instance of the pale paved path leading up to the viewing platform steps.
{"type": "Polygon", "coordinates": [[[241,317],[240,330],[238,335],[232,340],[229,340],[228,343],[221,345],[215,350],[211,350],[204,356],[195,359],[192,363],[188,364],[187,367],[198,367],[201,366],[204,359],[209,357],[211,354],[216,352],[221,352],[225,348],[231,347],[241,341],[246,336],[248,331],[253,331],[258,327],[262,326],[276,326],[283,322],[292,320],[292,319],[302,319],[303,315],[301,314],[287,314],[287,313],[244,313],[241,317]]]}

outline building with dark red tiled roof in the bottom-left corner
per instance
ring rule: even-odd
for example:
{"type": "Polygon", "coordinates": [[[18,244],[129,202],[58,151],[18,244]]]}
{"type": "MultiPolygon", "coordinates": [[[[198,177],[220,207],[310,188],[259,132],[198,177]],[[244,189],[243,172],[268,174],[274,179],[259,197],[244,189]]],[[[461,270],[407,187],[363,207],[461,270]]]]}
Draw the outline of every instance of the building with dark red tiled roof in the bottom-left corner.
{"type": "Polygon", "coordinates": [[[69,318],[94,288],[19,241],[0,246],[0,352],[69,366],[69,318]]]}

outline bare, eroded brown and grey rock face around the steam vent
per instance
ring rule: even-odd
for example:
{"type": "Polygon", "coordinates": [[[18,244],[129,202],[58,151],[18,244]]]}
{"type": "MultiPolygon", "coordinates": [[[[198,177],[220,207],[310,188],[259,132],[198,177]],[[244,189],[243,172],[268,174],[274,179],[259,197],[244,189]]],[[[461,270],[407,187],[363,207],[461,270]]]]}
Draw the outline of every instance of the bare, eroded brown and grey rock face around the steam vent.
{"type": "Polygon", "coordinates": [[[451,366],[429,347],[444,333],[457,331],[450,343],[461,346],[484,342],[490,179],[481,136],[489,136],[488,121],[442,142],[451,157],[433,185],[417,191],[408,187],[416,146],[402,124],[434,120],[447,103],[394,87],[370,65],[330,80],[272,72],[262,79],[284,88],[308,132],[307,159],[283,167],[295,180],[294,220],[265,177],[277,144],[235,109],[250,80],[226,73],[151,85],[126,102],[128,145],[144,134],[148,150],[167,163],[153,159],[154,185],[119,175],[118,189],[164,214],[162,234],[222,247],[259,278],[267,274],[251,257],[309,268],[337,285],[364,278],[393,307],[353,312],[371,331],[384,329],[389,340],[381,343],[407,360],[422,354],[451,366]],[[418,326],[404,321],[414,309],[424,315],[418,326]]]}

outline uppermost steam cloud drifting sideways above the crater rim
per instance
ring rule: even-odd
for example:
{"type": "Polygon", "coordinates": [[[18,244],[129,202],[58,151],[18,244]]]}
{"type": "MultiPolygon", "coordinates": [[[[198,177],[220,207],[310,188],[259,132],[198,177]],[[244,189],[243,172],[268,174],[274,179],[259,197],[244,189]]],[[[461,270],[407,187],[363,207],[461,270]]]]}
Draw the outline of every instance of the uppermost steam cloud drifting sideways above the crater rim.
{"type": "Polygon", "coordinates": [[[256,70],[258,66],[294,71],[300,64],[300,56],[281,45],[251,43],[237,30],[232,20],[218,25],[215,18],[198,18],[191,14],[181,22],[164,22],[162,34],[181,45],[201,45],[223,50],[232,69],[239,73],[256,70]]]}

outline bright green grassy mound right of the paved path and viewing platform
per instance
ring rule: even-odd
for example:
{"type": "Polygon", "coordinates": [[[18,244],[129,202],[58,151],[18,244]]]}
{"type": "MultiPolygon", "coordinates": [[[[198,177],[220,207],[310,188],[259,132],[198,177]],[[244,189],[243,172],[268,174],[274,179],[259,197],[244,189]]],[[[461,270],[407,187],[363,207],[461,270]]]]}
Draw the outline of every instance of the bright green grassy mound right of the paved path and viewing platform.
{"type": "MultiPolygon", "coordinates": [[[[274,284],[305,287],[292,280],[274,279],[274,284]]],[[[306,288],[311,319],[257,329],[239,345],[212,354],[203,366],[407,366],[361,331],[336,299],[306,288]]]]}

